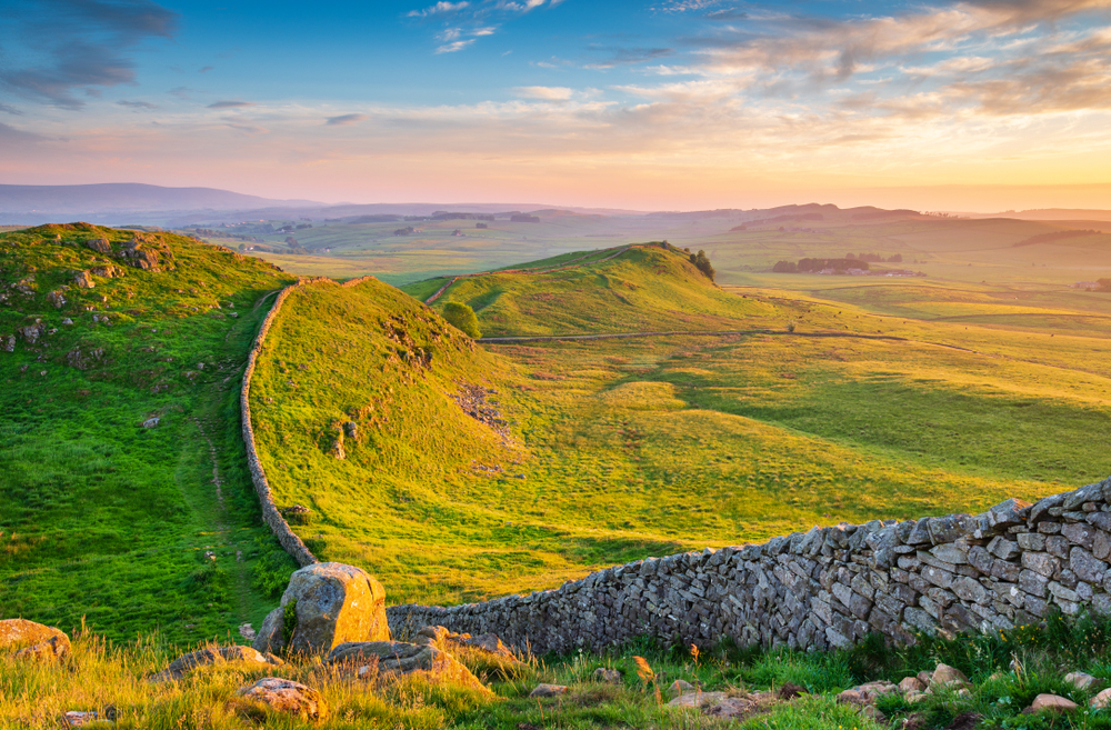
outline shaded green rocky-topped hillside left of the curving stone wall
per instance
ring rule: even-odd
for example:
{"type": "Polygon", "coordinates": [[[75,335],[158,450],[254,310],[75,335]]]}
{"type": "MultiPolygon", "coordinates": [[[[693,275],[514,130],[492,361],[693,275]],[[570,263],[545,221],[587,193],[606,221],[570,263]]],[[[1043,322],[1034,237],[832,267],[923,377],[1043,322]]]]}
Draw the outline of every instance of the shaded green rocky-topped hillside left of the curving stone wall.
{"type": "Polygon", "coordinates": [[[0,617],[224,636],[269,601],[237,394],[291,279],[170,234],[128,257],[134,236],[0,236],[0,617]]]}

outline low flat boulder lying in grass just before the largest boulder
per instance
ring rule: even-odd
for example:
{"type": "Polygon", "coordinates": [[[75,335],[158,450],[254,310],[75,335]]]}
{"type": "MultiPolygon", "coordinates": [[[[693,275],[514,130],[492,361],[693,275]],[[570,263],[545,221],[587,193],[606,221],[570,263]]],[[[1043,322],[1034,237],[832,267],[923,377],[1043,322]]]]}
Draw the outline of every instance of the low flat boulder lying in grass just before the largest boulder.
{"type": "Polygon", "coordinates": [[[357,667],[360,678],[378,674],[423,676],[433,682],[462,684],[483,692],[489,690],[456,661],[454,657],[433,646],[403,641],[352,641],[332,649],[327,664],[357,667]]]}

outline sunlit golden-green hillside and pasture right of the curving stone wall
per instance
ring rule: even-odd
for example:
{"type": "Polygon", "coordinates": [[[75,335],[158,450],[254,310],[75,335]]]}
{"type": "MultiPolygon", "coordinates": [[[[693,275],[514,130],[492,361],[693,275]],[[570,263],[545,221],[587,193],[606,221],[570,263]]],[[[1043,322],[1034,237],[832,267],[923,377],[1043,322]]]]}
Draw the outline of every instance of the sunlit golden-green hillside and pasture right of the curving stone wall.
{"type": "Polygon", "coordinates": [[[316,510],[294,529],[318,553],[364,566],[391,602],[452,602],[815,523],[974,512],[1111,473],[1107,339],[725,291],[659,247],[600,258],[460,279],[433,309],[469,303],[487,334],[777,333],[486,353],[437,343],[446,326],[378,282],[290,299],[256,418],[274,427],[260,432],[280,501],[316,510]],[[430,368],[406,364],[396,327],[412,332],[402,349],[433,348],[430,368]],[[463,383],[498,391],[508,442],[452,402],[463,383]],[[340,460],[346,420],[364,440],[340,460]]]}

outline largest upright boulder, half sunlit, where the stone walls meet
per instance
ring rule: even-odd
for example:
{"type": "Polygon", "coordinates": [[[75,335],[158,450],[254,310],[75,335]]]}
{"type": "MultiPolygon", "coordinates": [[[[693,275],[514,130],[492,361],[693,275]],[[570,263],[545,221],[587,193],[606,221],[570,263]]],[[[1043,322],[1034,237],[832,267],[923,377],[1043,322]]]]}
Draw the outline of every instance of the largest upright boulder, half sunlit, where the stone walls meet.
{"type": "Polygon", "coordinates": [[[341,643],[389,640],[382,584],[359,568],[318,562],[293,573],[252,646],[273,654],[322,657],[341,643]],[[291,604],[296,620],[287,621],[291,604]]]}

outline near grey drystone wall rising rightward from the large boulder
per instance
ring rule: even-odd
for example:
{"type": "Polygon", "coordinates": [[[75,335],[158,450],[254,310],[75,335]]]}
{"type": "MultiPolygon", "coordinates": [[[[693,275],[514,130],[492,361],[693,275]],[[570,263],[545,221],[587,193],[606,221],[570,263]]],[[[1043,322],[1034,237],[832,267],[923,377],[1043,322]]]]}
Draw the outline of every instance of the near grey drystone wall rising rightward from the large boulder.
{"type": "Polygon", "coordinates": [[[664,643],[849,647],[1111,612],[1111,479],[983,514],[813,528],[764,544],[648,558],[557,590],[452,608],[397,606],[390,629],[494,632],[534,652],[664,643]]]}

